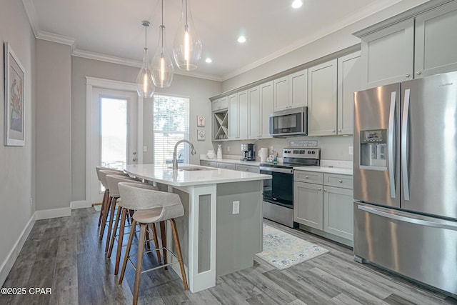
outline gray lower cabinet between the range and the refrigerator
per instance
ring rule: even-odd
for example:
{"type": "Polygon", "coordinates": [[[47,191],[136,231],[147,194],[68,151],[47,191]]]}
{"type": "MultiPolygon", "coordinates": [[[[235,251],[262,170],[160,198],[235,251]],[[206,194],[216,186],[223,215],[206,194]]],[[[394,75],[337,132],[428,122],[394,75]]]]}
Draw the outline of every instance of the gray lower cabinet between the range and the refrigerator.
{"type": "Polygon", "coordinates": [[[293,221],[353,241],[352,181],[348,175],[294,171],[293,221]]]}

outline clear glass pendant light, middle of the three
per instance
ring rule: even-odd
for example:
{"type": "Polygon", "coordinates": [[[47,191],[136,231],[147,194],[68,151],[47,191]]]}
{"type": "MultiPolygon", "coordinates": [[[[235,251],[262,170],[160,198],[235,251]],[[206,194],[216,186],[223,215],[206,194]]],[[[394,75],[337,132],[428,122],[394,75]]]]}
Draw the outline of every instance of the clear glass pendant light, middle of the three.
{"type": "Polygon", "coordinates": [[[168,88],[171,85],[174,73],[173,61],[165,51],[165,41],[164,0],[162,0],[162,24],[159,26],[159,44],[151,63],[152,81],[154,81],[154,85],[160,88],[168,88]]]}

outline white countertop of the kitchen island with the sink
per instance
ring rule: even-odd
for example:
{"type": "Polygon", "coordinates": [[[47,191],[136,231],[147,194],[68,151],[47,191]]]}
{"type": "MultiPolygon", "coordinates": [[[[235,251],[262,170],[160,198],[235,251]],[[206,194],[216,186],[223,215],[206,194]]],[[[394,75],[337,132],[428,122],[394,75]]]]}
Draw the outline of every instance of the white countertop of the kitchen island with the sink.
{"type": "Polygon", "coordinates": [[[171,164],[133,164],[127,165],[125,171],[140,179],[156,181],[171,186],[193,186],[271,179],[270,175],[248,173],[246,171],[232,171],[230,169],[216,169],[214,167],[193,164],[179,164],[177,170],[171,169],[171,164]],[[186,167],[197,167],[207,170],[186,171],[180,169],[186,167]]]}

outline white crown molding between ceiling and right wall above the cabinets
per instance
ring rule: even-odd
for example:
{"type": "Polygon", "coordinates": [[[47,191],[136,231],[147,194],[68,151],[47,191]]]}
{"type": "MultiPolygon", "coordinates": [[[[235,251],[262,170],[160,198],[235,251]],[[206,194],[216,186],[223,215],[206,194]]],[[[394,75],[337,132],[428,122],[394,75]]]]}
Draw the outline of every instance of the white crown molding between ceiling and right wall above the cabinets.
{"type": "Polygon", "coordinates": [[[324,36],[330,35],[336,31],[339,31],[339,30],[345,28],[346,26],[350,26],[351,24],[355,24],[357,21],[365,19],[368,16],[371,16],[371,15],[377,13],[378,11],[381,11],[382,9],[387,9],[388,7],[393,6],[394,4],[397,4],[398,2],[401,2],[401,0],[391,0],[391,1],[388,1],[387,4],[385,2],[383,2],[382,4],[380,2],[376,2],[375,4],[368,6],[365,9],[358,10],[355,12],[355,14],[351,14],[351,15],[347,16],[345,19],[341,20],[340,22],[338,22],[336,24],[333,24],[332,26],[327,27],[326,29],[323,29],[321,31],[316,31],[316,33],[314,33],[313,36],[311,36],[311,38],[304,39],[301,41],[296,41],[294,44],[286,46],[285,48],[278,50],[278,51],[274,52],[273,54],[263,57],[263,59],[259,59],[258,61],[254,61],[252,64],[248,64],[247,66],[243,66],[240,69],[236,69],[236,70],[231,71],[228,74],[224,74],[224,76],[222,76],[222,81],[231,79],[232,77],[238,76],[251,69],[254,69],[254,68],[257,68],[258,66],[266,64],[269,61],[273,61],[274,59],[277,59],[278,57],[291,53],[291,51],[300,49],[302,46],[311,44],[312,42],[317,41],[318,39],[321,39],[324,36]]]}

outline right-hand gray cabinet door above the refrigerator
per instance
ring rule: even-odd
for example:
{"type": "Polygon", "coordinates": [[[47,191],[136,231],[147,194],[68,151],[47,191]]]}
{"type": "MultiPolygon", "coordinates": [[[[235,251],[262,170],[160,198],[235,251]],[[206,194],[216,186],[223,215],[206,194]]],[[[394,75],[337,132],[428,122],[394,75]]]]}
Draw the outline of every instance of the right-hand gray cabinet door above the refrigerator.
{"type": "Polygon", "coordinates": [[[416,17],[415,78],[457,70],[457,3],[416,17]]]}

